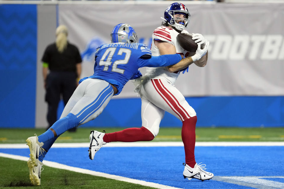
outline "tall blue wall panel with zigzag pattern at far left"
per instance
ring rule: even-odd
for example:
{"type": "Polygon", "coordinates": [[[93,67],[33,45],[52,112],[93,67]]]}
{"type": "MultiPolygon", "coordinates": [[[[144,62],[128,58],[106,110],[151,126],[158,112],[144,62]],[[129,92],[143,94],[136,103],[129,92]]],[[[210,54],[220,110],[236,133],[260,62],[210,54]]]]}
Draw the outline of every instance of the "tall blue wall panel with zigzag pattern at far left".
{"type": "Polygon", "coordinates": [[[0,5],[0,127],[35,126],[36,5],[0,5]]]}

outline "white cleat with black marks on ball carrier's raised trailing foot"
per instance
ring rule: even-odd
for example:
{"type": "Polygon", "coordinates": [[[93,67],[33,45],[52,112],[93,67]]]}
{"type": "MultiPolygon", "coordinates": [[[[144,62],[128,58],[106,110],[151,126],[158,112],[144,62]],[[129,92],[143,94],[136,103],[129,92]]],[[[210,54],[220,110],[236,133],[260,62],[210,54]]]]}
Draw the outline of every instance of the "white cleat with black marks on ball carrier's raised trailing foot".
{"type": "Polygon", "coordinates": [[[90,147],[89,147],[89,157],[91,160],[94,159],[94,156],[97,151],[101,148],[101,146],[105,145],[106,142],[103,141],[105,133],[101,133],[99,131],[91,131],[90,134],[90,147]]]}

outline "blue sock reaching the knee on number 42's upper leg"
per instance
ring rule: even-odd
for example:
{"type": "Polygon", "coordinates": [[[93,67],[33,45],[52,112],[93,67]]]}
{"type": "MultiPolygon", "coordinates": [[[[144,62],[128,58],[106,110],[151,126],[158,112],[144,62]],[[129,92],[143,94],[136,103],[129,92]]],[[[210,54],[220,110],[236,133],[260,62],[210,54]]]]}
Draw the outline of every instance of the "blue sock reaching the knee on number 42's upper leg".
{"type": "MultiPolygon", "coordinates": [[[[65,131],[74,128],[79,125],[80,120],[76,115],[69,113],[66,117],[57,120],[51,128],[54,129],[57,136],[61,135],[65,131]]],[[[46,132],[38,136],[38,141],[45,143],[46,141],[53,139],[54,133],[49,129],[46,132]]]]}

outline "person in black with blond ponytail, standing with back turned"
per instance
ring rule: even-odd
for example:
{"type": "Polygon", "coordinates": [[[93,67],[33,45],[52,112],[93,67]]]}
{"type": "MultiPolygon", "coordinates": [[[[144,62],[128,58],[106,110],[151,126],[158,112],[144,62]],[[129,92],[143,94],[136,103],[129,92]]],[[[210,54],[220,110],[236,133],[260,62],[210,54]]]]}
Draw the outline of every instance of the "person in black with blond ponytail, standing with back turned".
{"type": "MultiPolygon", "coordinates": [[[[51,127],[57,121],[60,95],[64,105],[78,86],[81,74],[81,56],[78,48],[67,40],[68,30],[64,25],[56,29],[55,43],[49,44],[43,54],[43,81],[48,103],[47,121],[51,127]],[[48,74],[49,71],[49,74],[48,74]]],[[[47,129],[48,129],[47,128],[47,129]]],[[[76,127],[69,130],[76,131],[76,127]]]]}

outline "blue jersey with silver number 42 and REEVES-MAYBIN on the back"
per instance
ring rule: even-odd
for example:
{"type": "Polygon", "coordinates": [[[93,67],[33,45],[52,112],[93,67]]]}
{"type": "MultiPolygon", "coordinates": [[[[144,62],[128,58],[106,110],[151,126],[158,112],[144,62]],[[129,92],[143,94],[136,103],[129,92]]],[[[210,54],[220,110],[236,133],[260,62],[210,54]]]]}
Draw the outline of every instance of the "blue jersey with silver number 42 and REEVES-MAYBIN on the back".
{"type": "Polygon", "coordinates": [[[151,56],[151,50],[141,43],[111,43],[100,45],[95,54],[94,74],[88,78],[102,79],[117,88],[118,95],[124,85],[133,79],[141,67],[170,66],[181,56],[151,56]]]}

